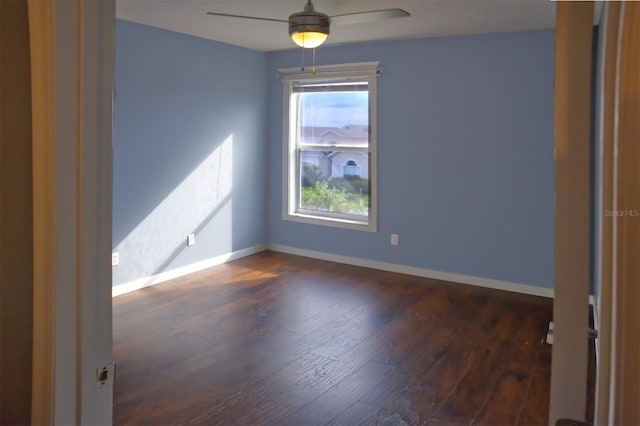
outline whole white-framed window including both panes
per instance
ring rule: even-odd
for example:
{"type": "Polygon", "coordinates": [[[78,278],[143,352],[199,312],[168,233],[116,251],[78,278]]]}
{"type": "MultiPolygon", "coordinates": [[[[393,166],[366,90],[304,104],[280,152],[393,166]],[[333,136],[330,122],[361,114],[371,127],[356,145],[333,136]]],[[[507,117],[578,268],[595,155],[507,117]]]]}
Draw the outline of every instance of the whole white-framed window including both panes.
{"type": "Polygon", "coordinates": [[[376,231],[377,65],[281,70],[284,219],[376,231]]]}

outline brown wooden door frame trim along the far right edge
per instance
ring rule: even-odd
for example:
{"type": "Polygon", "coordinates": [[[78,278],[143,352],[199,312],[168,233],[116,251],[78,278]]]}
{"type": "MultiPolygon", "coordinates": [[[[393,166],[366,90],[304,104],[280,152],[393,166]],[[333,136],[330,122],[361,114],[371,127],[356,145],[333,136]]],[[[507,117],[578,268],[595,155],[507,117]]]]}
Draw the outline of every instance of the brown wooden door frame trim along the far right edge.
{"type": "Polygon", "coordinates": [[[596,212],[601,222],[597,277],[601,318],[595,423],[638,424],[640,4],[609,2],[603,13],[597,135],[602,211],[596,212]]]}

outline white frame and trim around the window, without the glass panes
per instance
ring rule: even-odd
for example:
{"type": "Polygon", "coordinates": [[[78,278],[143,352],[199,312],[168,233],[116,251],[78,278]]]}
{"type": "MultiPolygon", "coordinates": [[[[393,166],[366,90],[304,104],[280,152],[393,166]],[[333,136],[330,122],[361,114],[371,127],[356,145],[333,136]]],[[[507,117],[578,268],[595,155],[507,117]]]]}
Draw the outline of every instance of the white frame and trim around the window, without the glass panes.
{"type": "MultiPolygon", "coordinates": [[[[316,73],[301,72],[300,68],[279,70],[283,77],[283,187],[282,187],[282,218],[296,222],[316,225],[333,226],[360,231],[376,232],[378,218],[378,131],[377,131],[377,77],[378,62],[362,62],[343,65],[326,65],[316,67],[316,73]],[[301,81],[327,79],[360,79],[367,81],[369,87],[369,196],[370,207],[366,221],[354,219],[353,215],[341,215],[329,212],[315,212],[298,209],[299,200],[299,164],[296,146],[295,128],[290,126],[295,122],[295,111],[290,109],[292,104],[293,86],[301,81]]],[[[348,147],[339,147],[339,151],[349,151],[348,147]]]]}

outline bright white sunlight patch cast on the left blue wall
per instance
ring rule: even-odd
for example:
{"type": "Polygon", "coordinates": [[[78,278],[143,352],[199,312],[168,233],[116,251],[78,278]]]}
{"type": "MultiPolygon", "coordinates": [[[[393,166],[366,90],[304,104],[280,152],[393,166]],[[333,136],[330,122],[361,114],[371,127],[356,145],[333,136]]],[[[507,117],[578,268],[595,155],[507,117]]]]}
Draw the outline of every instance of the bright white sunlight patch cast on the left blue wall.
{"type": "Polygon", "coordinates": [[[230,134],[114,248],[128,259],[118,267],[125,279],[150,277],[167,270],[186,249],[185,237],[199,235],[213,222],[209,246],[233,248],[233,139],[230,134]]]}

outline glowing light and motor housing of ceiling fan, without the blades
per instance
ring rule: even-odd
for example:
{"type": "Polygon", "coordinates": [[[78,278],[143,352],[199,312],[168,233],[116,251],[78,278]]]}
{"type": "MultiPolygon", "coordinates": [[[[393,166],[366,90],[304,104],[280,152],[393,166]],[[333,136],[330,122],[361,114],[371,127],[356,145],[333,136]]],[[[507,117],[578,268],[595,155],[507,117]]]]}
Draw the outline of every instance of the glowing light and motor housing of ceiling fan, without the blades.
{"type": "Polygon", "coordinates": [[[311,1],[308,1],[302,12],[289,16],[289,35],[300,47],[316,48],[329,36],[329,16],[316,12],[311,1]]]}

